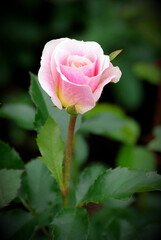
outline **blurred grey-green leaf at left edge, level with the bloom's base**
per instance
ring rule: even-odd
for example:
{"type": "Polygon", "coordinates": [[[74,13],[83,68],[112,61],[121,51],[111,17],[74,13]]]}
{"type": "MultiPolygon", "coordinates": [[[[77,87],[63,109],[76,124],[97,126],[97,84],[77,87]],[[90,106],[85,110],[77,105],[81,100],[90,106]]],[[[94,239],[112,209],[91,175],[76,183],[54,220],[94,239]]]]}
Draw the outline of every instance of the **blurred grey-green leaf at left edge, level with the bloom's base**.
{"type": "Polygon", "coordinates": [[[32,130],[35,109],[27,104],[6,103],[0,108],[0,117],[14,120],[20,127],[32,130]]]}

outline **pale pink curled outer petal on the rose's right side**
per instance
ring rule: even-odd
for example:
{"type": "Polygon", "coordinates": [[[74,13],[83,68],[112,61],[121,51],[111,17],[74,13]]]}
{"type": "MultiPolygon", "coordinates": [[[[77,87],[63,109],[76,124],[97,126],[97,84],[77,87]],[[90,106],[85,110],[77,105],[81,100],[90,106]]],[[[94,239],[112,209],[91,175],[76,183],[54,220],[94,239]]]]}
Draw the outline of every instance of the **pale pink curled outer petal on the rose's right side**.
{"type": "Polygon", "coordinates": [[[103,87],[109,82],[114,82],[114,83],[118,82],[120,80],[121,74],[122,73],[119,67],[114,67],[112,63],[110,63],[109,67],[104,70],[100,78],[98,87],[94,91],[93,96],[95,101],[97,101],[100,98],[103,87]]]}

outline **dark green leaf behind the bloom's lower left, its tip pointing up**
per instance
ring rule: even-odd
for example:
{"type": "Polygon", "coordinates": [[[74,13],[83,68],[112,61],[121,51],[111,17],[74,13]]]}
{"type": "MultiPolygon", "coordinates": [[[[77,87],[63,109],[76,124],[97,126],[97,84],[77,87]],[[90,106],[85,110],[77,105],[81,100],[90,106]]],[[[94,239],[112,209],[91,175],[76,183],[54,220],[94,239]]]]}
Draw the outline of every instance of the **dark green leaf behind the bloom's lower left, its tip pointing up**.
{"type": "MultiPolygon", "coordinates": [[[[55,122],[58,124],[61,130],[61,136],[64,143],[67,139],[67,129],[69,123],[70,115],[65,111],[65,109],[58,109],[53,106],[50,97],[43,91],[41,88],[38,78],[33,73],[30,73],[31,76],[31,86],[30,86],[30,95],[37,107],[37,112],[35,116],[34,126],[39,132],[41,126],[43,126],[49,116],[51,116],[55,122]]],[[[75,131],[79,128],[81,123],[81,116],[77,118],[75,131]]]]}

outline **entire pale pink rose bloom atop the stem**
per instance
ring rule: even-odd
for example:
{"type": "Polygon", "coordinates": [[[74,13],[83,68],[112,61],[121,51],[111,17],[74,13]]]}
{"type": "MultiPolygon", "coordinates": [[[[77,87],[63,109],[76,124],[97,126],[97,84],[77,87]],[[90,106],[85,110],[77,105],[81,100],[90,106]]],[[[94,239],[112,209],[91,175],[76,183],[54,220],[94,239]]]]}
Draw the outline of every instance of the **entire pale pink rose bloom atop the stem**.
{"type": "Polygon", "coordinates": [[[69,38],[46,43],[38,72],[41,87],[59,109],[74,106],[81,114],[96,105],[107,83],[120,77],[98,43],[69,38]]]}

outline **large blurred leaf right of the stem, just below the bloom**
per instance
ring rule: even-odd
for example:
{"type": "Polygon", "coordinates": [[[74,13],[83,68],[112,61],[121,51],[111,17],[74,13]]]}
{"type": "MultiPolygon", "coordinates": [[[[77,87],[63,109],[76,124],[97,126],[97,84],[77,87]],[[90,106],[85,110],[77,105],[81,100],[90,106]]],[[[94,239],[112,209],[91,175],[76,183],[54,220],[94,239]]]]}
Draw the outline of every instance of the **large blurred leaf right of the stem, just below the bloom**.
{"type": "Polygon", "coordinates": [[[128,144],[134,144],[140,134],[138,123],[111,104],[97,104],[84,119],[80,132],[101,134],[128,144]]]}

